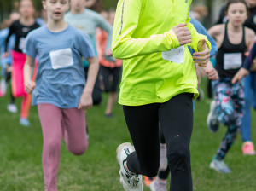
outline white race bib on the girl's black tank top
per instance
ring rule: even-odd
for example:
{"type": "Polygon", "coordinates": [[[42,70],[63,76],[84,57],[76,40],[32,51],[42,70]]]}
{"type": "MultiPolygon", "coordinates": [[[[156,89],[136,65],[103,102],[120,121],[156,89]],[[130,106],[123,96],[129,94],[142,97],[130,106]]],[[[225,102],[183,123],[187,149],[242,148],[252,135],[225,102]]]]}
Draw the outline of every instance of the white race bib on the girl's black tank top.
{"type": "Polygon", "coordinates": [[[224,54],[224,70],[237,69],[242,65],[241,53],[224,54]]]}

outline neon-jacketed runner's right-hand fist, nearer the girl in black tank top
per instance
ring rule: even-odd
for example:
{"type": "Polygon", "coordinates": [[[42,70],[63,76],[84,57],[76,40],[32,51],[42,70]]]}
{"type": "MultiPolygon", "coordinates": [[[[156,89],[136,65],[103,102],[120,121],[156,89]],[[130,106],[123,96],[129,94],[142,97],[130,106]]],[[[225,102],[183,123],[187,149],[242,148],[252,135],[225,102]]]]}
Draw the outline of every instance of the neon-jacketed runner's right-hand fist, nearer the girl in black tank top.
{"type": "Polygon", "coordinates": [[[207,48],[207,43],[205,39],[199,41],[197,46],[198,52],[195,52],[193,59],[199,67],[207,67],[207,63],[210,59],[210,50],[207,48]]]}

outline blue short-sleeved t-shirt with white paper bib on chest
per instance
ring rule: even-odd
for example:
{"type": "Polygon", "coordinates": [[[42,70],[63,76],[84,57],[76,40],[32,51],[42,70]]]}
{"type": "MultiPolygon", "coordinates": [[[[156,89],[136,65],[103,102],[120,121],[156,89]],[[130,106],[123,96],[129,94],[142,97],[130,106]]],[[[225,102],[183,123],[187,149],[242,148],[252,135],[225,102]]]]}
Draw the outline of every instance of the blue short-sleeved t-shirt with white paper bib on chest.
{"type": "Polygon", "coordinates": [[[26,55],[38,59],[32,105],[79,107],[85,85],[82,56],[95,56],[90,37],[73,26],[62,32],[42,26],[28,34],[25,47],[26,55]]]}

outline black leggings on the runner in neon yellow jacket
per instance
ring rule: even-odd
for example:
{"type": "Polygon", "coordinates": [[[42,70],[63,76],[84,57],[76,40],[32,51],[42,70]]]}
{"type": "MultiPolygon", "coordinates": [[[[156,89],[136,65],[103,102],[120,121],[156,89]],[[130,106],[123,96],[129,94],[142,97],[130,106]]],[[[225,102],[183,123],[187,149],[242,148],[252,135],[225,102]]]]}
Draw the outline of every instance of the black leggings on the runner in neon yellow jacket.
{"type": "Polygon", "coordinates": [[[166,137],[167,157],[171,167],[172,191],[191,191],[189,143],[193,129],[191,94],[174,96],[165,103],[124,106],[125,120],[136,152],[127,159],[130,171],[155,177],[160,165],[161,130],[166,137]]]}

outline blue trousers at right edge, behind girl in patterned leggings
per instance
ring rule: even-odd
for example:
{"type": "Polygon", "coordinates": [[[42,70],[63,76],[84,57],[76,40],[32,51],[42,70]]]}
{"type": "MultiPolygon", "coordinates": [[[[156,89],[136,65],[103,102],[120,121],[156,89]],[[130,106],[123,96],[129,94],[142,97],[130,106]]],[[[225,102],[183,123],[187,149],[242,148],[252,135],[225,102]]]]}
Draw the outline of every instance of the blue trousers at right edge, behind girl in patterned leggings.
{"type": "Polygon", "coordinates": [[[256,110],[256,72],[250,72],[245,78],[245,109],[241,123],[241,138],[243,142],[252,141],[251,138],[251,106],[256,110]]]}

